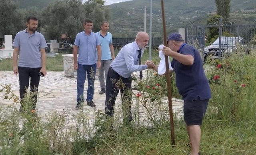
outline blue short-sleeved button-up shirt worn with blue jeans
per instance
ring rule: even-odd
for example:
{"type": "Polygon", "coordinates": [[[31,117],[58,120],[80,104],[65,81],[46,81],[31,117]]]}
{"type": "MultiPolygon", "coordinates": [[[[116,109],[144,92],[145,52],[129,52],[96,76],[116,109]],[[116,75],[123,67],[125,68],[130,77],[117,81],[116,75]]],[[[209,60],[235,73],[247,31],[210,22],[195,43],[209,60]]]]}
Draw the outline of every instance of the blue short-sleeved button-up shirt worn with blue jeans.
{"type": "Polygon", "coordinates": [[[101,45],[100,38],[96,33],[91,32],[86,35],[82,31],[76,35],[74,45],[78,46],[78,63],[80,65],[93,65],[97,61],[97,45],[101,45]]]}

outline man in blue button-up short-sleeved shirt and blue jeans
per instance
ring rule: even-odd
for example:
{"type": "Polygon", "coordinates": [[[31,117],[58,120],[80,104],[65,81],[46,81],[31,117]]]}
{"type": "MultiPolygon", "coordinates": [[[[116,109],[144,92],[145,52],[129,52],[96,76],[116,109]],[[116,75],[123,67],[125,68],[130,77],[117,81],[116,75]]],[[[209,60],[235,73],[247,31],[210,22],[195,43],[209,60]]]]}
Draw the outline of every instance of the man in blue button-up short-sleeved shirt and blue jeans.
{"type": "Polygon", "coordinates": [[[100,38],[92,32],[92,20],[84,20],[84,31],[76,35],[74,42],[74,69],[77,70],[77,104],[76,109],[82,108],[84,103],[84,82],[88,80],[87,105],[95,107],[93,100],[94,79],[96,68],[100,68],[101,47],[100,38]],[[97,50],[96,50],[97,49],[97,50]],[[96,57],[98,53],[98,61],[96,57]],[[78,54],[78,57],[77,57],[78,54]]]}

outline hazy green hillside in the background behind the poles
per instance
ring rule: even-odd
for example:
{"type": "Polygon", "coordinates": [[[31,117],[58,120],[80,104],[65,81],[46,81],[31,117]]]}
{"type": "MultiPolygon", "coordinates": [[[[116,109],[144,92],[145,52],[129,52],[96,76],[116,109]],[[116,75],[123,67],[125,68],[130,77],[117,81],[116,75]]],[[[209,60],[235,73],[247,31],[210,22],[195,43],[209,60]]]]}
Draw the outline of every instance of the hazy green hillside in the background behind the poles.
{"type": "MultiPolygon", "coordinates": [[[[162,36],[162,11],[161,1],[152,0],[152,35],[154,37],[162,36]]],[[[168,32],[177,31],[178,27],[184,27],[192,23],[193,25],[206,24],[206,18],[210,13],[216,12],[214,0],[164,0],[166,15],[166,29],[168,32]],[[192,22],[194,21],[194,22],[192,22]],[[197,21],[197,22],[195,22],[197,21]]],[[[137,31],[144,31],[144,6],[147,7],[147,31],[149,31],[150,20],[150,1],[149,0],[132,0],[112,4],[107,7],[112,13],[112,29],[114,36],[118,35],[133,37],[137,31]]],[[[248,0],[231,0],[231,12],[256,12],[256,1],[248,0]],[[255,11],[254,11],[255,10],[255,11]]],[[[235,15],[237,17],[237,15],[235,15]]],[[[242,16],[242,19],[246,18],[242,16]]],[[[230,20],[233,19],[231,14],[230,20]]],[[[252,17],[254,19],[254,17],[252,17]]],[[[239,19],[237,23],[243,23],[239,19]]],[[[256,22],[256,21],[255,21],[256,22]]],[[[254,23],[255,23],[254,22],[254,23]]],[[[232,22],[236,23],[236,22],[232,22]]]]}

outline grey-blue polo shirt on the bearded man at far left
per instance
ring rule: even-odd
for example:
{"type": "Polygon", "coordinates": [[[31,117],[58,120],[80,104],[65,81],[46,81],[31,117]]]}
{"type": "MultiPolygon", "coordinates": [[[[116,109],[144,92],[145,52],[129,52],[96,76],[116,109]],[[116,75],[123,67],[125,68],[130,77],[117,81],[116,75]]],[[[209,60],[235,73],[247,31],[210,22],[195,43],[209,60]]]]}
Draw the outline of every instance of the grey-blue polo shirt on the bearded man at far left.
{"type": "Polygon", "coordinates": [[[44,35],[37,31],[30,35],[25,29],[16,34],[12,46],[20,48],[19,67],[42,67],[40,49],[47,47],[44,35]]]}

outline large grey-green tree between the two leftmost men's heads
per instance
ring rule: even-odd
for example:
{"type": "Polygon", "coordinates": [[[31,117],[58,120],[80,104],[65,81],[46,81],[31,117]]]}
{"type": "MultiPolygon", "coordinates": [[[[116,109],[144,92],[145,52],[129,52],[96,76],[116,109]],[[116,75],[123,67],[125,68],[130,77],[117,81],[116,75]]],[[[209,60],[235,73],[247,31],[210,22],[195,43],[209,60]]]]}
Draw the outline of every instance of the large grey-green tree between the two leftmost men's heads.
{"type": "Polygon", "coordinates": [[[46,38],[59,39],[65,34],[70,41],[82,29],[84,10],[81,0],[58,0],[42,11],[46,38]]]}

